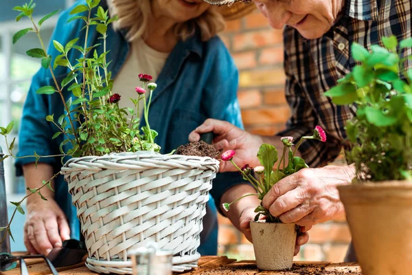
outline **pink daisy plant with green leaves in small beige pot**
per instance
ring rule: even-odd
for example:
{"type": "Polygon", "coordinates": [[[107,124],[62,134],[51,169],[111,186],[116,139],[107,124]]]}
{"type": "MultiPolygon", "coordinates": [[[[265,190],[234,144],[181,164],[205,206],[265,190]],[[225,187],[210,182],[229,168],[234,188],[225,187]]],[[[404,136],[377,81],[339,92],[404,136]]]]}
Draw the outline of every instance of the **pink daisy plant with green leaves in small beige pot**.
{"type": "MultiPolygon", "coordinates": [[[[222,160],[231,162],[239,170],[243,178],[249,181],[257,191],[255,194],[243,197],[258,196],[258,199],[262,201],[264,195],[271,190],[277,181],[308,167],[304,159],[295,156],[301,142],[305,139],[325,142],[325,131],[323,131],[321,126],[316,126],[313,135],[301,137],[295,148],[292,148],[294,146],[293,137],[282,137],[281,140],[284,148],[280,157],[277,155],[275,146],[262,144],[257,155],[262,166],[255,168],[250,167],[249,164],[239,168],[233,162],[233,156],[236,153],[233,150],[222,153],[222,160]],[[275,166],[275,164],[277,165],[275,166]]],[[[231,204],[243,197],[231,203],[223,203],[223,209],[229,211],[231,204]]],[[[295,223],[282,223],[277,217],[273,217],[269,210],[262,206],[262,203],[255,209],[255,212],[257,214],[250,225],[258,268],[260,270],[290,269],[293,265],[297,226],[295,223]]]]}

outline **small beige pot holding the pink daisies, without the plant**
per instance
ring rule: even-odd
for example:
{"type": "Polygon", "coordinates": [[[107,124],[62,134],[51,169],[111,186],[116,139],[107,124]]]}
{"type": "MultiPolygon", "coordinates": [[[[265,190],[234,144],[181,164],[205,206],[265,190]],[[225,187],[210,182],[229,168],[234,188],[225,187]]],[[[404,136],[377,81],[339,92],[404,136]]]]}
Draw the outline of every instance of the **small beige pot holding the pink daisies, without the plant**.
{"type": "Polygon", "coordinates": [[[251,221],[253,249],[260,270],[287,270],[293,265],[295,223],[251,221]]]}

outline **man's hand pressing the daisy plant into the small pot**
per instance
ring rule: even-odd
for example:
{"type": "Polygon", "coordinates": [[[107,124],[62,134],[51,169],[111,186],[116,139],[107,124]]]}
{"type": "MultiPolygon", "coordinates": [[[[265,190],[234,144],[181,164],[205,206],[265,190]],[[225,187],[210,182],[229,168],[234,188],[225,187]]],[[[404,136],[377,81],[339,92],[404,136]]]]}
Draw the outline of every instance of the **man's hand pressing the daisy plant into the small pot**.
{"type": "Polygon", "coordinates": [[[304,168],[278,181],[262,203],[284,223],[308,226],[337,219],[345,211],[336,186],[353,176],[353,166],[304,168]]]}

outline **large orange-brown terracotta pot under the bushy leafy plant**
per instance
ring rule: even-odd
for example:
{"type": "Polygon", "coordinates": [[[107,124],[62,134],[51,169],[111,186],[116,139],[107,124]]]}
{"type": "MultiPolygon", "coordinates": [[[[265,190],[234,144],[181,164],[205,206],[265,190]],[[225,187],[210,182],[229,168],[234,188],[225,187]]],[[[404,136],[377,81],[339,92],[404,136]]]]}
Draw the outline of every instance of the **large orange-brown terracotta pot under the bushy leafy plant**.
{"type": "Polygon", "coordinates": [[[338,187],[363,275],[411,274],[412,182],[338,187]]]}

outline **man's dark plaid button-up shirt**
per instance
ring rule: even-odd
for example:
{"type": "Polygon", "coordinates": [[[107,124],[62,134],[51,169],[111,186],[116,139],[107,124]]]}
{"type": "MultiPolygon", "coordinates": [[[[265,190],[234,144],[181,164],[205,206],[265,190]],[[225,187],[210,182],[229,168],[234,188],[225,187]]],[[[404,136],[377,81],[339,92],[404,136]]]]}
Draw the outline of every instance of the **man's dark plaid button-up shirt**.
{"type": "MultiPolygon", "coordinates": [[[[323,93],[356,65],[352,43],[370,50],[371,44],[383,45],[383,36],[394,34],[401,40],[410,38],[411,32],[411,0],[346,0],[341,17],[319,39],[304,39],[294,28],[285,28],[286,100],[292,116],[278,135],[299,140],[312,135],[316,125],[325,129],[325,143],[305,140],[299,148],[309,166],[324,166],[348,148],[345,123],[356,107],[336,106],[323,93]]],[[[411,55],[411,49],[403,54],[411,55]]],[[[410,68],[412,62],[406,65],[410,68]]]]}

